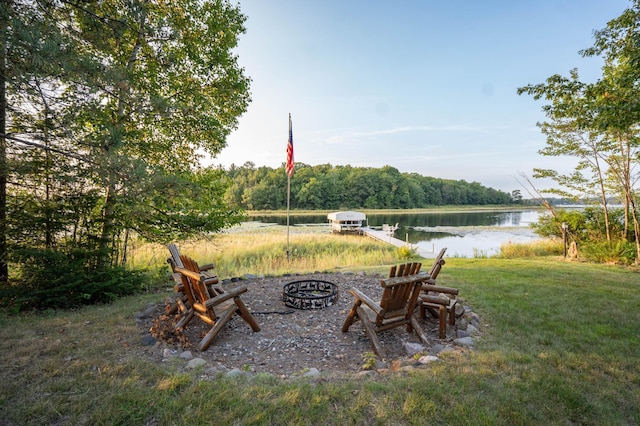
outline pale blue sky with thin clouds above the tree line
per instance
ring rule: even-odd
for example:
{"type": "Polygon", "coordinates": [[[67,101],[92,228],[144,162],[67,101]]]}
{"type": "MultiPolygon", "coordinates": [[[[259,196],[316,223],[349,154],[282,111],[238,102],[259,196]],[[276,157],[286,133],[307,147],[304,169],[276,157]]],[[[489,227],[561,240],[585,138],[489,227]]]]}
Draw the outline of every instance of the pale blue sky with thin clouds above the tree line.
{"type": "MultiPolygon", "coordinates": [[[[544,105],[517,89],[554,74],[594,82],[579,51],[628,0],[240,0],[235,52],[252,102],[213,164],[389,165],[400,172],[523,190],[544,105]]],[[[292,179],[295,179],[295,174],[292,179]]],[[[532,180],[537,189],[550,182],[532,180]]],[[[524,190],[523,190],[524,192],[524,190]]]]}

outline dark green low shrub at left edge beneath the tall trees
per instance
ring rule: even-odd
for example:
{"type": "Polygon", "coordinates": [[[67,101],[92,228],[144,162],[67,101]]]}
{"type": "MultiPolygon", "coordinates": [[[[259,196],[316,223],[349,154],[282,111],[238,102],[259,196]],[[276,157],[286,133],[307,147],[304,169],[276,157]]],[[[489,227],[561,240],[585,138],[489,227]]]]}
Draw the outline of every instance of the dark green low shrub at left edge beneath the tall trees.
{"type": "Polygon", "coordinates": [[[2,288],[0,301],[15,311],[108,303],[145,285],[141,272],[96,268],[96,254],[83,249],[25,248],[13,254],[19,277],[2,288]]]}

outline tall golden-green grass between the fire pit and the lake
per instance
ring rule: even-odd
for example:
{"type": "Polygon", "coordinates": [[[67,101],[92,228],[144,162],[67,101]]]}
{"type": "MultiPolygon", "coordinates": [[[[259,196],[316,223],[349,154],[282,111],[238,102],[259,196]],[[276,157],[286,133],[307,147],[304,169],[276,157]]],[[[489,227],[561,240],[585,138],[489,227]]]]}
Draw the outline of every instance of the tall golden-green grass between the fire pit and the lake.
{"type": "MultiPolygon", "coordinates": [[[[282,275],[314,271],[349,270],[389,265],[407,253],[368,237],[330,234],[325,230],[245,226],[208,239],[178,242],[182,254],[201,264],[213,263],[221,278],[245,274],[282,275]],[[288,251],[288,255],[287,255],[288,251]]],[[[135,247],[131,267],[164,267],[169,252],[158,244],[135,247]]]]}

